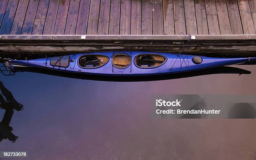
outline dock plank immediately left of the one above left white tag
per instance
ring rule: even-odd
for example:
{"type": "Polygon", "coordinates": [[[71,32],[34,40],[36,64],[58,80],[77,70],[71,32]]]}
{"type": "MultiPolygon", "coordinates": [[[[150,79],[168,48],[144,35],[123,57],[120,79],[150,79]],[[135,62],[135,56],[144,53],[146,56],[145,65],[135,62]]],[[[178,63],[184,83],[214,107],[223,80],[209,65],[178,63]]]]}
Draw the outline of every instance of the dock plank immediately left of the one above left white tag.
{"type": "Polygon", "coordinates": [[[70,0],[64,34],[75,34],[80,0],[70,0]]]}

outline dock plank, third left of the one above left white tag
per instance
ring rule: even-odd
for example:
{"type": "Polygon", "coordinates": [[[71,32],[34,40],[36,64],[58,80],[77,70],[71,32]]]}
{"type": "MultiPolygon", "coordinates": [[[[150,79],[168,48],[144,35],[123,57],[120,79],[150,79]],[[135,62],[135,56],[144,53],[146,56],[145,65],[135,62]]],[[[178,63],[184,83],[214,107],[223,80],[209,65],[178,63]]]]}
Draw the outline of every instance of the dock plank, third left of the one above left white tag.
{"type": "Polygon", "coordinates": [[[50,0],[48,12],[47,12],[46,20],[44,24],[44,31],[43,31],[44,35],[54,33],[56,16],[58,13],[58,10],[56,8],[58,8],[58,6],[59,6],[59,0],[50,0]]]}

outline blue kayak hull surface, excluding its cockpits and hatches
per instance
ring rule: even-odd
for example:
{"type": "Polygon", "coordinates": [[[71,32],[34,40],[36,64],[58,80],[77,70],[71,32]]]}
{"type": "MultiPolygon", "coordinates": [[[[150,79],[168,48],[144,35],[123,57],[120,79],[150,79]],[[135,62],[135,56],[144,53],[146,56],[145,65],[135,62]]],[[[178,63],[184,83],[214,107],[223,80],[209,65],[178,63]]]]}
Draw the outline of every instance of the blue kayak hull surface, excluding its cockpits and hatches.
{"type": "MultiPolygon", "coordinates": [[[[67,57],[67,56],[66,56],[67,57]]],[[[72,72],[79,74],[97,74],[105,76],[143,76],[143,75],[159,75],[159,74],[174,74],[188,71],[197,71],[202,69],[209,69],[220,66],[228,66],[239,63],[248,63],[249,61],[256,61],[256,58],[212,58],[205,56],[196,56],[201,60],[199,63],[195,61],[195,56],[174,54],[174,53],[156,53],[156,52],[98,52],[98,53],[79,53],[75,55],[69,55],[67,60],[56,61],[52,63],[51,58],[40,58],[34,60],[10,60],[8,63],[11,66],[28,66],[35,68],[43,68],[54,71],[72,72]],[[115,64],[115,55],[123,54],[131,59],[131,62],[126,66],[120,66],[118,68],[115,64]],[[149,57],[161,56],[164,60],[161,61],[161,65],[155,65],[153,67],[143,68],[138,66],[138,57],[141,55],[147,55],[149,57]],[[152,55],[152,56],[151,56],[152,55]],[[81,66],[80,61],[82,56],[100,56],[106,57],[108,60],[104,60],[102,66],[96,68],[86,68],[81,66]],[[79,59],[80,58],[80,59],[79,59]],[[67,63],[64,63],[66,61],[67,63]],[[58,66],[61,65],[63,66],[58,66]]],[[[56,58],[55,58],[56,59],[56,58]]],[[[119,60],[119,59],[118,59],[119,60]]],[[[120,60],[122,61],[122,59],[120,60]]],[[[148,60],[151,61],[151,60],[148,60]]],[[[123,62],[123,61],[122,61],[123,62]]],[[[101,62],[98,62],[101,63],[101,62]]],[[[155,62],[153,62],[155,63],[155,62]]]]}

